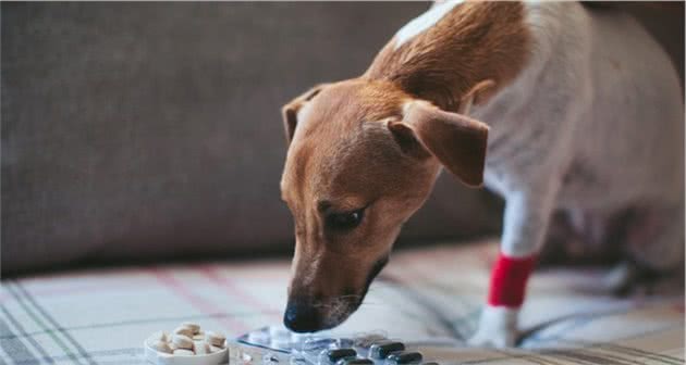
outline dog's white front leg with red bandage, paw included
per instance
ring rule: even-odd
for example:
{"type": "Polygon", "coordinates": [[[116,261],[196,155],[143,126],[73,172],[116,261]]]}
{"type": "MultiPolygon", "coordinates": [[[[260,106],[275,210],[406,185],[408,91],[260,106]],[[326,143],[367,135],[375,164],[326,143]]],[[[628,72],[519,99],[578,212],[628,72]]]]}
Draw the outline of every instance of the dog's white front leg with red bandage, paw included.
{"type": "Polygon", "coordinates": [[[491,274],[488,304],[469,344],[505,348],[517,341],[519,307],[558,191],[550,182],[536,187],[506,196],[501,250],[491,274]]]}

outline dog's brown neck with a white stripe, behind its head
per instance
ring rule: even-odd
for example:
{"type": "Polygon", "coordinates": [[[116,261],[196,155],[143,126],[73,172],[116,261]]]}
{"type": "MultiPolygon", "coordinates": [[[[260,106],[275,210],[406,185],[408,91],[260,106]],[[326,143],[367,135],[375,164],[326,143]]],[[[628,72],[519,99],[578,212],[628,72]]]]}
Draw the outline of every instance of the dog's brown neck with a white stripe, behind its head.
{"type": "Polygon", "coordinates": [[[522,3],[439,3],[403,27],[363,77],[455,112],[476,84],[492,79],[502,88],[513,80],[529,48],[522,3]]]}

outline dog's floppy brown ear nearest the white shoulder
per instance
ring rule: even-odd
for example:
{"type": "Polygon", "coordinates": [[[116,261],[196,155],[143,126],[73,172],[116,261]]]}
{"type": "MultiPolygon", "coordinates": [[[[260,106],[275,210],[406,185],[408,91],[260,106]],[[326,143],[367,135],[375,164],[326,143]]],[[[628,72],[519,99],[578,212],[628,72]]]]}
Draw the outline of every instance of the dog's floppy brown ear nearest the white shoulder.
{"type": "Polygon", "coordinates": [[[436,156],[468,186],[483,182],[486,124],[414,100],[404,105],[402,121],[389,121],[387,126],[403,152],[419,159],[436,156]]]}

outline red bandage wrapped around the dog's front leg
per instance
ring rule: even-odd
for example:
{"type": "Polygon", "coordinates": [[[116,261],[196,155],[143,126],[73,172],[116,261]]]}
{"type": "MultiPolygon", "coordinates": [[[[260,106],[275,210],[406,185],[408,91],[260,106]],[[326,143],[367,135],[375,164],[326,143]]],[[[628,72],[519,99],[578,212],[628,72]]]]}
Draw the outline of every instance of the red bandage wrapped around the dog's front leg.
{"type": "Polygon", "coordinates": [[[493,306],[518,307],[524,302],[526,281],[534,268],[536,255],[507,257],[502,252],[491,273],[491,288],[488,304],[493,306]]]}

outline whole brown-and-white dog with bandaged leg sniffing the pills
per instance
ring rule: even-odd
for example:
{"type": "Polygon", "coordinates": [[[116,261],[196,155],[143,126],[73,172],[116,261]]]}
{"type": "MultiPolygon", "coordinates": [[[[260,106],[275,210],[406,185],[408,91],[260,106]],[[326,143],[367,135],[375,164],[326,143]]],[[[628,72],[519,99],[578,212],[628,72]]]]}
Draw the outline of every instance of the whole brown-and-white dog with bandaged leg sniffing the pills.
{"type": "Polygon", "coordinates": [[[621,11],[434,4],[362,76],[282,109],[281,192],[296,240],[285,326],[331,328],[360,305],[441,169],[506,202],[475,345],[516,343],[554,212],[584,229],[632,210],[623,247],[634,266],[681,265],[681,92],[665,52],[621,11]]]}

